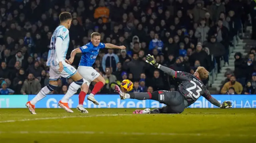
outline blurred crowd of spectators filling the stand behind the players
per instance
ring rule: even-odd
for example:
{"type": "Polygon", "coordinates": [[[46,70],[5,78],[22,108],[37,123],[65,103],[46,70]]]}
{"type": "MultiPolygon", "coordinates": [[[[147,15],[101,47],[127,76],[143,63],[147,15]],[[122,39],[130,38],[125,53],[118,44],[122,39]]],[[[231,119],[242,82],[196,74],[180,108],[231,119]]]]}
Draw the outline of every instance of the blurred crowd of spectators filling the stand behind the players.
{"type": "MultiPolygon", "coordinates": [[[[248,14],[252,24],[256,16],[256,3],[247,0],[0,1],[0,94],[37,94],[48,84],[48,48],[60,12],[73,16],[67,59],[95,31],[103,43],[126,46],[102,49],[98,55],[93,68],[106,79],[102,94],[113,94],[113,85],[124,79],[134,82],[132,92],[175,90],[179,81],[146,64],[147,54],[176,71],[193,74],[199,66],[212,71],[218,65],[220,72],[221,61],[229,65],[233,37],[245,30],[248,14]]],[[[254,94],[255,54],[254,48],[248,58],[235,54],[235,70],[225,73],[222,94],[254,94]]],[[[80,57],[76,55],[75,68],[80,57]]],[[[62,78],[52,94],[65,94],[71,82],[62,78]]]]}

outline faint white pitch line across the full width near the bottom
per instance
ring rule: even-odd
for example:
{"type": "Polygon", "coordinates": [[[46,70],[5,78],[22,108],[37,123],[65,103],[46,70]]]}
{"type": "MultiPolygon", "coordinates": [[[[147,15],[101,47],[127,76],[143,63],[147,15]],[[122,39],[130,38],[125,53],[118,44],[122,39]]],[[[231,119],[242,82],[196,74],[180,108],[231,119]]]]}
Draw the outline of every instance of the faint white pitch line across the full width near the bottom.
{"type": "Polygon", "coordinates": [[[10,131],[0,134],[105,134],[105,135],[162,135],[162,136],[222,136],[222,137],[256,137],[247,134],[212,134],[212,133],[143,133],[143,132],[104,132],[104,131],[10,131]]]}

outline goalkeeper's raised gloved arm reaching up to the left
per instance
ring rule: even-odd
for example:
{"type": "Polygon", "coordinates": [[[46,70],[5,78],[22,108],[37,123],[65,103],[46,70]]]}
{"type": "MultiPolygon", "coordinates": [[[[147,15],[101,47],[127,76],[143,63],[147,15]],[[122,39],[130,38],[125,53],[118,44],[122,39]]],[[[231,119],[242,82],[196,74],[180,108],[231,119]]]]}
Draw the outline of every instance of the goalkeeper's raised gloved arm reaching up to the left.
{"type": "Polygon", "coordinates": [[[168,67],[164,67],[158,63],[156,63],[156,59],[154,58],[154,56],[148,54],[146,56],[146,62],[150,63],[150,65],[153,65],[154,67],[160,69],[163,72],[166,72],[167,74],[171,75],[171,76],[175,76],[175,71],[173,69],[170,69],[168,67]]]}

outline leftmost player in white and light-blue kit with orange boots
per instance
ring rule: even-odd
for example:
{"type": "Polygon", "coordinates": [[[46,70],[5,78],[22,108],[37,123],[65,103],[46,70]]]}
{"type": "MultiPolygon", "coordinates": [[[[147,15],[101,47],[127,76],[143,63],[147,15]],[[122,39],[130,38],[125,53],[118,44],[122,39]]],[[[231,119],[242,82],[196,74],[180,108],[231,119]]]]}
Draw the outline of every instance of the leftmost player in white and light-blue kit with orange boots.
{"type": "MultiPolygon", "coordinates": [[[[69,31],[72,16],[69,12],[62,12],[59,16],[60,25],[54,30],[52,34],[52,39],[50,43],[50,49],[48,53],[48,59],[46,65],[50,67],[50,82],[47,86],[44,86],[40,92],[29,102],[26,103],[26,106],[30,110],[31,114],[36,114],[35,104],[36,102],[42,100],[46,97],[47,94],[55,90],[58,86],[57,80],[62,77],[72,78],[72,82],[68,88],[65,96],[58,102],[58,105],[64,108],[67,112],[73,113],[68,106],[68,99],[73,96],[77,90],[83,84],[82,76],[76,72],[76,69],[69,65],[68,60],[66,60],[66,53],[68,51],[69,44],[69,31]]],[[[83,110],[83,113],[88,113],[86,109],[83,110]]],[[[82,112],[82,111],[81,111],[82,112]]]]}

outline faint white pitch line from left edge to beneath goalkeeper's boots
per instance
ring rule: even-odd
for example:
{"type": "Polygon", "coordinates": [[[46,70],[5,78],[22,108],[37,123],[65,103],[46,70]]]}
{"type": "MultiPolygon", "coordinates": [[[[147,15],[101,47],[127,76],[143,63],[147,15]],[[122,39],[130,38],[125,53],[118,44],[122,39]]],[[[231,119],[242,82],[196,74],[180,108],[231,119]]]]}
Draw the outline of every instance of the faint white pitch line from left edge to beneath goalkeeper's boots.
{"type": "Polygon", "coordinates": [[[46,119],[65,119],[65,118],[88,118],[88,117],[103,117],[103,116],[130,116],[132,114],[108,114],[108,115],[88,115],[88,116],[64,116],[64,117],[50,117],[50,118],[32,118],[32,119],[18,119],[18,120],[6,120],[0,121],[0,123],[11,123],[17,121],[36,121],[36,120],[46,120],[46,119]]]}

